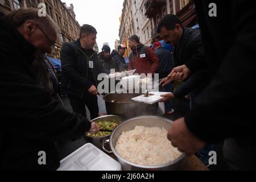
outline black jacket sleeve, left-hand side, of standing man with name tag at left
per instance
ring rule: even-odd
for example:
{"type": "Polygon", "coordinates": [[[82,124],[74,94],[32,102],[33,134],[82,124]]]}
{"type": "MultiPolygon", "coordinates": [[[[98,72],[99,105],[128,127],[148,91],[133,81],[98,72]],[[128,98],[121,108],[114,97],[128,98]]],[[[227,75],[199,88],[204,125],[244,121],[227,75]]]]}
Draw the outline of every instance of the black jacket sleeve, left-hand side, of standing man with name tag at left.
{"type": "Polygon", "coordinates": [[[75,52],[70,43],[66,43],[63,45],[63,47],[61,48],[60,56],[62,72],[67,75],[72,81],[76,82],[76,84],[79,84],[83,86],[86,90],[89,90],[89,88],[93,84],[87,78],[81,76],[81,74],[77,72],[75,68],[75,52]]]}

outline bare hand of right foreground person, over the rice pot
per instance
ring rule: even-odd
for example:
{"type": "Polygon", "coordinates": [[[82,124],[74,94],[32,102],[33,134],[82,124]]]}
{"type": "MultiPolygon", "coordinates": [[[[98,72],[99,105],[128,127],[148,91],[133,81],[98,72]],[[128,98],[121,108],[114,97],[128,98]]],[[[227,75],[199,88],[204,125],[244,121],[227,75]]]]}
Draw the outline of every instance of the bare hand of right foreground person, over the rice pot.
{"type": "Polygon", "coordinates": [[[188,130],[184,118],[177,119],[168,129],[168,140],[172,146],[187,155],[195,154],[205,146],[205,142],[197,138],[188,130]]]}

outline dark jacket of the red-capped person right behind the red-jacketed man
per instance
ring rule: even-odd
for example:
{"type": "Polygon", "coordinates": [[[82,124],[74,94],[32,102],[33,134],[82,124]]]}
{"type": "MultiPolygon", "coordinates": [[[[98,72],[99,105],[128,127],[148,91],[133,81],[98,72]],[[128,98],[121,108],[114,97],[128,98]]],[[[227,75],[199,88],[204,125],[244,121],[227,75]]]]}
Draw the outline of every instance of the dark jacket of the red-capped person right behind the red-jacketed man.
{"type": "Polygon", "coordinates": [[[162,79],[171,73],[174,68],[174,60],[172,58],[172,53],[163,48],[157,49],[155,54],[159,58],[159,79],[162,79]]]}

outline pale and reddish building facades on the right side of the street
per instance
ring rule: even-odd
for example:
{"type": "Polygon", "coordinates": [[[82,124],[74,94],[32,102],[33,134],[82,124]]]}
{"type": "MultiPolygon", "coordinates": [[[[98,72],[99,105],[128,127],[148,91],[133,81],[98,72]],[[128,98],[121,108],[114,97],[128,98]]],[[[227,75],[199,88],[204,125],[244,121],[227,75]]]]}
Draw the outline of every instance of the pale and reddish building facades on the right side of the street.
{"type": "Polygon", "coordinates": [[[139,37],[141,43],[150,46],[152,38],[158,35],[156,28],[160,20],[167,14],[175,14],[183,23],[183,26],[192,27],[197,24],[195,6],[191,0],[125,0],[121,24],[119,28],[119,37],[121,42],[127,42],[125,38],[129,37],[127,27],[128,6],[130,2],[133,9],[134,32],[139,37]]]}

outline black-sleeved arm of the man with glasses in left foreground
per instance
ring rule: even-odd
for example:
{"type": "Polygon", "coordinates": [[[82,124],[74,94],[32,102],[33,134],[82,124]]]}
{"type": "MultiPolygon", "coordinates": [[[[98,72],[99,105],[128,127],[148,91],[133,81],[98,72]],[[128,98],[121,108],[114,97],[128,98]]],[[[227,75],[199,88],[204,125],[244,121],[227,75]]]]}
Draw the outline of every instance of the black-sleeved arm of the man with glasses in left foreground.
{"type": "Polygon", "coordinates": [[[6,60],[0,72],[1,120],[6,132],[28,141],[59,142],[77,139],[90,130],[85,117],[63,109],[20,67],[6,60]]]}

